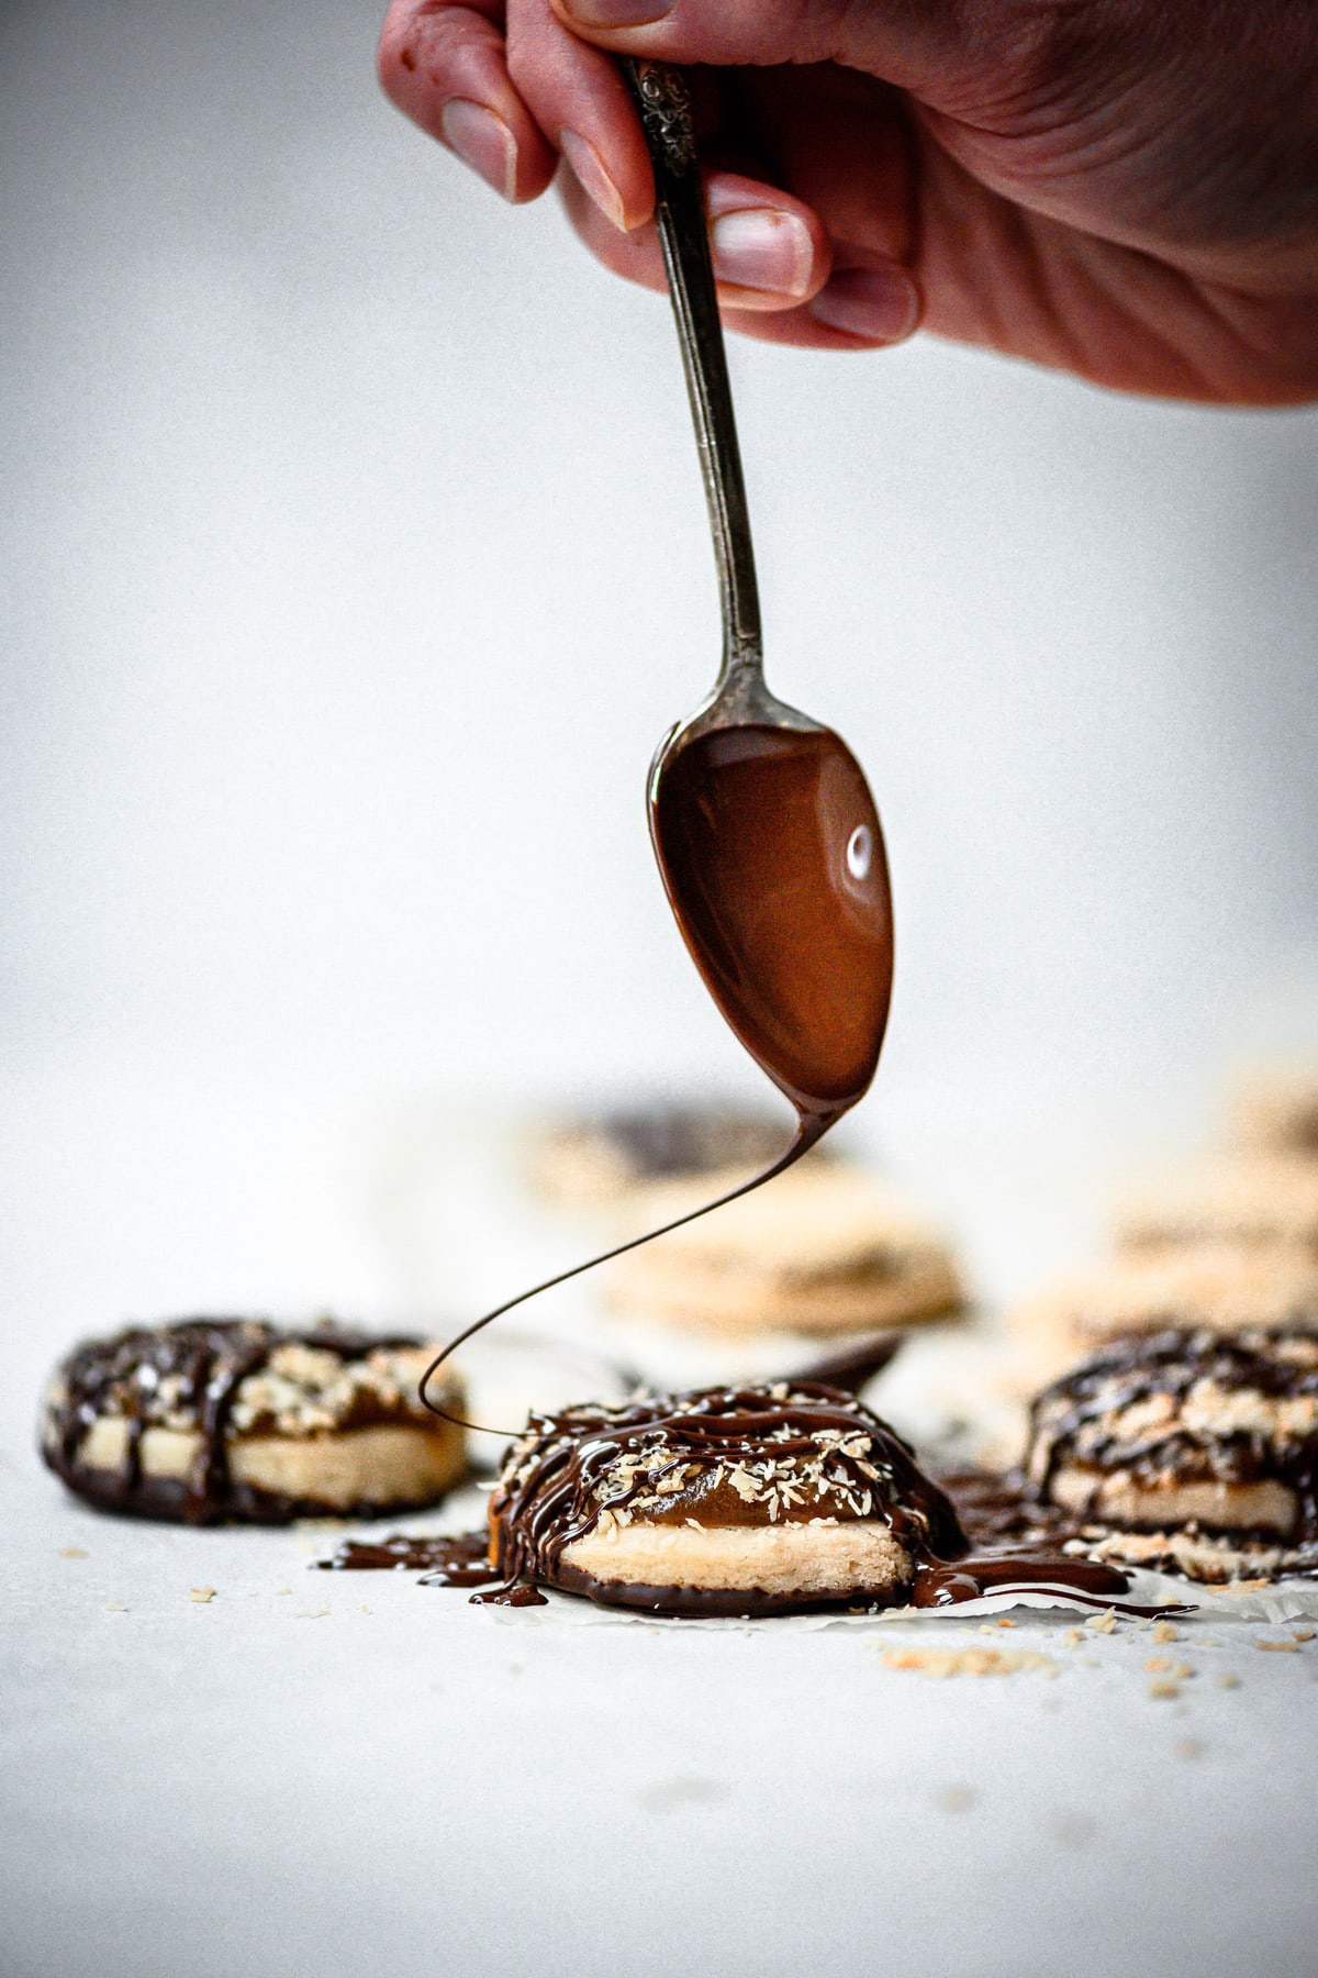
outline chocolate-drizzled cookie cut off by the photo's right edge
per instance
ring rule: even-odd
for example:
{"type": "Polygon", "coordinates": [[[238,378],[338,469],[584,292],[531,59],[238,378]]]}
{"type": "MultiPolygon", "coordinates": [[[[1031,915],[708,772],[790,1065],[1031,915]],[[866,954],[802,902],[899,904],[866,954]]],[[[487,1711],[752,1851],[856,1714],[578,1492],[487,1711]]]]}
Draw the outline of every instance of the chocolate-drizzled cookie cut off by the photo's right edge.
{"type": "MultiPolygon", "coordinates": [[[[1156,1529],[1158,1493],[1278,1484],[1294,1497],[1294,1545],[1318,1539],[1318,1339],[1302,1333],[1162,1331],[1093,1353],[1031,1408],[1028,1478],[1047,1503],[1061,1474],[1130,1482],[1156,1529]]],[[[1211,1515],[1201,1523],[1213,1529],[1211,1515]]],[[[1245,1535],[1231,1521],[1221,1529],[1245,1535]]],[[[1267,1537],[1277,1537],[1271,1529],[1267,1537]]]]}

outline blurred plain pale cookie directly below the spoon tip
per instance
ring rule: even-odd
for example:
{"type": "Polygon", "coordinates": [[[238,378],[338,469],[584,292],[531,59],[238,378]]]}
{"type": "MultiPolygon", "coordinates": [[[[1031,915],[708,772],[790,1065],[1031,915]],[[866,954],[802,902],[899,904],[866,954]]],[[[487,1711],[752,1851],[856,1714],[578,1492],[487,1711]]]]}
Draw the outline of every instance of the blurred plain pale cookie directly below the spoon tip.
{"type": "MultiPolygon", "coordinates": [[[[658,1181],[628,1226],[700,1207],[705,1185],[658,1181]]],[[[947,1236],[889,1183],[850,1163],[796,1167],[753,1195],[605,1266],[615,1311],[723,1337],[921,1325],[964,1305],[947,1236]]]]}

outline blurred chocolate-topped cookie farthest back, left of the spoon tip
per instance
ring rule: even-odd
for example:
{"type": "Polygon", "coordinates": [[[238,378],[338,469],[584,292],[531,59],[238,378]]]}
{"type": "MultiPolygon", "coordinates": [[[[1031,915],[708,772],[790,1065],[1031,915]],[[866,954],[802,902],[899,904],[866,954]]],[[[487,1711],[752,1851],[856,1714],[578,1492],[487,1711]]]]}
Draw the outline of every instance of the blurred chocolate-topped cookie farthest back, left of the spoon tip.
{"type": "Polygon", "coordinates": [[[658,1181],[717,1179],[733,1187],[769,1167],[790,1139],[792,1122],[767,1112],[656,1100],[547,1122],[532,1139],[528,1177],[555,1207],[613,1211],[658,1181]]]}

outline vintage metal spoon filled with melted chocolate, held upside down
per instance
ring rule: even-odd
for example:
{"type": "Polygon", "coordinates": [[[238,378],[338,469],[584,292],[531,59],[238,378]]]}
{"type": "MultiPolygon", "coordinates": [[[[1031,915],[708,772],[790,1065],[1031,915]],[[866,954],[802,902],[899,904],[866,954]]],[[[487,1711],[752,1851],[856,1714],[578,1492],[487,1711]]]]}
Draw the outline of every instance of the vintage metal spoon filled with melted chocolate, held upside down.
{"type": "Polygon", "coordinates": [[[668,63],[624,59],[622,69],[654,164],[723,601],[719,678],[650,767],[650,837],[709,993],[796,1108],[796,1157],[873,1078],[893,975],[887,860],[846,742],[765,684],[690,91],[668,63]]]}

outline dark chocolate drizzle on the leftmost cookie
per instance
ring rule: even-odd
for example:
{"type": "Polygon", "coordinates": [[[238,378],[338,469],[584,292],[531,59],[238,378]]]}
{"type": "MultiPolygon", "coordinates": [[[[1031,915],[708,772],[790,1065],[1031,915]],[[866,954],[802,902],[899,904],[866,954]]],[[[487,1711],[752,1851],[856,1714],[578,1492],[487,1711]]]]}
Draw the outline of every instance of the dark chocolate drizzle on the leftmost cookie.
{"type": "Polygon", "coordinates": [[[366,1359],[379,1347],[419,1347],[413,1335],[370,1335],[324,1323],[285,1331],[265,1319],[180,1319],[174,1325],[130,1325],[109,1339],[87,1339],[63,1361],[63,1396],[49,1408],[41,1454],[81,1497],[107,1511],[138,1517],[182,1517],[213,1525],[229,1517],[287,1523],[322,1509],[316,1503],[235,1485],[229,1478],[229,1414],[249,1375],[261,1373],[285,1345],[366,1359]],[[202,1448],[184,1484],[142,1476],[142,1434],[152,1426],[150,1402],[164,1381],[176,1383],[172,1410],[188,1414],[202,1448]],[[85,1470],[79,1448],[101,1416],[126,1424],[119,1472],[85,1470]]]}

